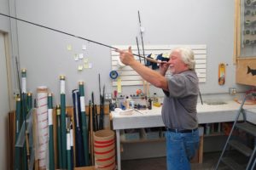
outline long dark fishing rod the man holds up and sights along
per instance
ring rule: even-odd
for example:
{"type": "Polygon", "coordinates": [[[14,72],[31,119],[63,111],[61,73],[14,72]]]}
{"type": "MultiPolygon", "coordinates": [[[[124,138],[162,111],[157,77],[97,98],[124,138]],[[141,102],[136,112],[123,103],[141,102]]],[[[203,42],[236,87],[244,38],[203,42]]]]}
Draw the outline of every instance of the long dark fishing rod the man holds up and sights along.
{"type": "MultiPolygon", "coordinates": [[[[14,20],[19,20],[19,21],[21,21],[21,22],[25,22],[25,23],[31,24],[31,25],[33,25],[33,26],[39,26],[39,27],[45,28],[45,29],[47,29],[47,30],[60,32],[60,33],[65,34],[65,35],[67,35],[67,36],[77,37],[77,38],[79,38],[79,39],[86,40],[86,41],[88,41],[88,42],[93,42],[93,43],[96,43],[96,44],[98,44],[98,45],[102,45],[102,46],[107,47],[107,48],[113,48],[113,49],[115,49],[115,50],[119,50],[119,48],[114,48],[114,47],[112,47],[112,46],[110,46],[110,45],[107,45],[107,44],[104,44],[104,43],[102,43],[102,42],[96,42],[96,41],[93,41],[93,40],[90,40],[90,39],[87,39],[87,38],[84,38],[84,37],[75,36],[75,35],[73,35],[73,34],[71,34],[71,33],[65,32],[65,31],[56,30],[56,29],[50,28],[50,27],[48,27],[48,26],[43,26],[43,25],[39,25],[39,24],[34,23],[34,22],[31,22],[31,21],[22,20],[22,19],[19,19],[19,18],[14,17],[14,16],[10,16],[10,15],[8,15],[8,14],[2,14],[2,13],[0,13],[0,15],[9,17],[9,18],[14,19],[14,20]]],[[[143,37],[142,37],[142,38],[143,38],[143,37]]],[[[143,47],[143,48],[144,48],[144,47],[143,47]]],[[[158,61],[158,60],[155,60],[155,59],[148,59],[148,58],[145,57],[145,55],[144,55],[144,56],[141,56],[141,55],[138,55],[138,54],[133,54],[133,55],[135,55],[135,56],[137,56],[137,57],[140,57],[140,58],[143,58],[143,59],[147,59],[148,61],[153,62],[153,63],[158,63],[158,64],[161,63],[161,61],[158,61]]]]}

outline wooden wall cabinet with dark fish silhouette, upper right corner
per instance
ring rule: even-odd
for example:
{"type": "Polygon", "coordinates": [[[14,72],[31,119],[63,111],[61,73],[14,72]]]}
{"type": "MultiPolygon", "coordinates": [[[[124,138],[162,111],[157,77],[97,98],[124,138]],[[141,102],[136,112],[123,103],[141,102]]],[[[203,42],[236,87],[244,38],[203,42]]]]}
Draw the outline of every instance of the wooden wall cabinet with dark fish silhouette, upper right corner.
{"type": "Polygon", "coordinates": [[[234,62],[236,82],[256,83],[256,0],[235,1],[234,62]]]}

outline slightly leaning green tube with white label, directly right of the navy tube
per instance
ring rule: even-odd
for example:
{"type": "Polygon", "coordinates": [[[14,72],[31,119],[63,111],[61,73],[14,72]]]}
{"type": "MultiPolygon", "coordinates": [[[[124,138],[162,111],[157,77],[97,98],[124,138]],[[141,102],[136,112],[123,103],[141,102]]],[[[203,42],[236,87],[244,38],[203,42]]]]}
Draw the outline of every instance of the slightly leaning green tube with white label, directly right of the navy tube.
{"type": "Polygon", "coordinates": [[[85,100],[84,100],[84,82],[79,82],[79,94],[80,94],[80,111],[82,117],[82,135],[84,141],[84,157],[85,166],[89,166],[89,144],[88,144],[88,127],[85,114],[85,100]]]}

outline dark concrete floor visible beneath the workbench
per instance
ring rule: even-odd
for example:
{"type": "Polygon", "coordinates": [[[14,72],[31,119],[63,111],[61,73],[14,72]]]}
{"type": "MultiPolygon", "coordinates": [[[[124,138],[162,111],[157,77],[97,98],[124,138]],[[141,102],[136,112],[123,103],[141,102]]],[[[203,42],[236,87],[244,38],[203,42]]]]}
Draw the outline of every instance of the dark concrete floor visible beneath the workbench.
{"type": "MultiPolygon", "coordinates": [[[[192,163],[192,170],[212,170],[217,164],[220,152],[204,153],[203,163],[192,163]]],[[[138,159],[121,162],[122,170],[165,170],[166,157],[138,159]]],[[[218,170],[229,170],[230,168],[220,165],[218,170]]]]}

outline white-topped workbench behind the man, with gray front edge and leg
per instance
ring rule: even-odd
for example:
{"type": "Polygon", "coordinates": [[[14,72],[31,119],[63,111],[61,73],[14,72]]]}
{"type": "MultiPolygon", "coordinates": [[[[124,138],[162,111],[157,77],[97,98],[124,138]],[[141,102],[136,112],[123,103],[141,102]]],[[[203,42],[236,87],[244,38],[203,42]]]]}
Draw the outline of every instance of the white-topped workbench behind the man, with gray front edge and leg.
{"type": "MultiPolygon", "coordinates": [[[[236,118],[237,111],[240,108],[236,101],[224,101],[222,105],[215,105],[214,102],[197,105],[197,117],[199,124],[213,122],[233,122],[236,118]]],[[[247,121],[256,124],[256,105],[244,105],[246,110],[247,121]]],[[[121,169],[120,157],[120,130],[143,127],[165,127],[161,117],[161,107],[153,107],[152,110],[133,111],[131,115],[120,116],[112,111],[111,118],[113,121],[113,130],[116,132],[117,147],[117,166],[121,169]]],[[[241,117],[242,120],[242,117],[241,117]]]]}

